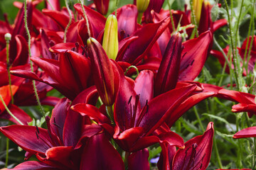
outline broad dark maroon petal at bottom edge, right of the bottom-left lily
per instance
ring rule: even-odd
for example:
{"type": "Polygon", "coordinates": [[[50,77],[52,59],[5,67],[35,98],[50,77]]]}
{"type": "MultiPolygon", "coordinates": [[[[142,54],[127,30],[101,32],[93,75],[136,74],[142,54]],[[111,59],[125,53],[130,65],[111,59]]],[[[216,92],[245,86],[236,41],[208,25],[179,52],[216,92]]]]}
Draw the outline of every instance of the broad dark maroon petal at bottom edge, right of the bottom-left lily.
{"type": "Polygon", "coordinates": [[[95,135],[87,141],[82,152],[80,169],[122,170],[124,169],[124,162],[107,137],[101,134],[95,135]]]}

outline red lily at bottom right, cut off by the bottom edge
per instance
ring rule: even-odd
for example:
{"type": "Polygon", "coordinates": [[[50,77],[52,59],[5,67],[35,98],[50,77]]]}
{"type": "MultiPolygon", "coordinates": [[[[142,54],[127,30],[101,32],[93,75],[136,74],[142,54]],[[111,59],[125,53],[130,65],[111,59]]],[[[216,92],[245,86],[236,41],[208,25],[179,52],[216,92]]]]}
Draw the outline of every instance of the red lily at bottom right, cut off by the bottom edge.
{"type": "Polygon", "coordinates": [[[213,123],[209,123],[206,132],[193,137],[185,143],[184,149],[164,147],[159,159],[159,169],[202,169],[206,170],[213,147],[213,123]],[[175,154],[176,152],[176,154],[175,154]],[[175,154],[175,155],[174,155],[175,154]]]}

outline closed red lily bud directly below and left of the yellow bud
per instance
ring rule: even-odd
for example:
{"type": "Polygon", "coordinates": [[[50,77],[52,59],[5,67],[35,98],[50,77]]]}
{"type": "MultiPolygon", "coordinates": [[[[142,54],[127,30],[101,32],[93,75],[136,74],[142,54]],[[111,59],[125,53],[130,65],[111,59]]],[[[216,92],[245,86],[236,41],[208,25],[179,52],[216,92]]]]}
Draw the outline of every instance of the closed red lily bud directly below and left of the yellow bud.
{"type": "Polygon", "coordinates": [[[110,59],[95,38],[87,40],[87,47],[98,94],[105,106],[112,106],[114,103],[114,71],[110,59]]]}

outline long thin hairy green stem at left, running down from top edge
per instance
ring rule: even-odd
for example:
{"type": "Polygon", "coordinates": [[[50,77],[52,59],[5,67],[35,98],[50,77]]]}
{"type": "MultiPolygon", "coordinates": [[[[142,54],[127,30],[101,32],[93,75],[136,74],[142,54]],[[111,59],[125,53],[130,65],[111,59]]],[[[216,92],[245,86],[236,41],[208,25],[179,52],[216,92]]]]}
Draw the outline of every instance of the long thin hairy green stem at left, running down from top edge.
{"type": "MultiPolygon", "coordinates": [[[[24,0],[24,23],[25,23],[26,33],[28,35],[28,55],[29,55],[29,58],[31,58],[31,35],[29,33],[29,30],[28,30],[28,21],[27,21],[28,11],[27,11],[26,8],[27,8],[27,4],[26,4],[26,0],[24,0]]],[[[31,62],[31,60],[29,60],[29,62],[30,62],[30,65],[31,65],[31,72],[33,72],[33,64],[31,62]]],[[[40,99],[39,99],[39,96],[38,96],[38,91],[36,89],[36,81],[33,80],[32,84],[33,84],[33,90],[35,92],[36,101],[38,103],[38,106],[39,106],[39,108],[41,108],[41,112],[42,112],[43,116],[45,116],[45,112],[43,110],[43,106],[40,103],[40,99]]]]}

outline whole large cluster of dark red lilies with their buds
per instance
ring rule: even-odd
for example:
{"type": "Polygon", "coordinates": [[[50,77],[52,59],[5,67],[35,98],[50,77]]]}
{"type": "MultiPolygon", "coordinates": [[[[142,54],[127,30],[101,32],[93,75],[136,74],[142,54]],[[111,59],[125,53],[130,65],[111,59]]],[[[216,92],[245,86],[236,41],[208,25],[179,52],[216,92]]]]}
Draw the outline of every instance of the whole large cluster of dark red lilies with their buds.
{"type": "Polygon", "coordinates": [[[256,113],[255,96],[194,81],[210,53],[223,63],[211,48],[213,33],[227,21],[211,21],[208,1],[195,4],[198,26],[190,10],[162,9],[164,0],[137,0],[107,18],[107,0],[74,4],[74,11],[57,0],[39,11],[41,1],[27,1],[27,11],[15,2],[14,25],[0,21],[0,118],[17,124],[0,132],[26,151],[26,162],[14,169],[150,169],[152,145],[161,146],[159,169],[206,169],[213,122],[184,142],[171,130],[176,120],[210,97],[238,102],[233,112],[256,113]],[[47,129],[28,125],[32,118],[18,108],[37,104],[33,82],[40,103],[54,106],[47,129]],[[52,89],[65,98],[48,96],[52,89]],[[31,157],[38,161],[27,161],[31,157]]]}

